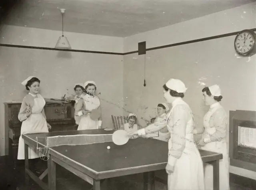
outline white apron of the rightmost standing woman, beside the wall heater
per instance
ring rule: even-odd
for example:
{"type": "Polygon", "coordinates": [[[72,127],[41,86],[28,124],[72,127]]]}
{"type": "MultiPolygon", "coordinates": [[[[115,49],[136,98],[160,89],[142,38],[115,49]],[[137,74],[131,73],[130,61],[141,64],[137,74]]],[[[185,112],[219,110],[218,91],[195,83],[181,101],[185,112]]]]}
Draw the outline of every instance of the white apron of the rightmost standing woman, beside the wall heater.
{"type": "MultiPolygon", "coordinates": [[[[209,126],[209,121],[217,109],[222,108],[221,105],[210,109],[208,113],[204,116],[204,134],[213,134],[215,133],[215,127],[209,126]]],[[[202,137],[204,137],[204,134],[202,137]]],[[[229,190],[229,162],[228,162],[228,144],[226,138],[223,138],[221,141],[214,141],[206,143],[205,146],[201,147],[202,150],[208,150],[212,152],[218,152],[223,154],[222,160],[220,160],[220,190],[229,190]]],[[[205,190],[213,190],[213,166],[207,163],[204,163],[204,184],[205,190]]]]}

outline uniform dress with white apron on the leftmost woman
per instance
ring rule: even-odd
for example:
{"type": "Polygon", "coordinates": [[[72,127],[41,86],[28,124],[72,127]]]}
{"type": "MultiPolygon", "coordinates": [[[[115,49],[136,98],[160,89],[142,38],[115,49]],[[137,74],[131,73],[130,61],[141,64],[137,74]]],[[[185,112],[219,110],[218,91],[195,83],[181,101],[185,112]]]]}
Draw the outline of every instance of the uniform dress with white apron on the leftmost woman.
{"type": "MultiPolygon", "coordinates": [[[[32,95],[29,93],[22,101],[18,114],[18,119],[22,122],[18,146],[18,160],[25,159],[24,139],[22,138],[22,134],[49,132],[44,114],[44,105],[44,98],[40,94],[32,95]],[[26,107],[29,104],[31,106],[31,115],[27,118],[26,107]]],[[[36,150],[28,147],[28,159],[38,157],[40,156],[36,153],[36,150]]]]}

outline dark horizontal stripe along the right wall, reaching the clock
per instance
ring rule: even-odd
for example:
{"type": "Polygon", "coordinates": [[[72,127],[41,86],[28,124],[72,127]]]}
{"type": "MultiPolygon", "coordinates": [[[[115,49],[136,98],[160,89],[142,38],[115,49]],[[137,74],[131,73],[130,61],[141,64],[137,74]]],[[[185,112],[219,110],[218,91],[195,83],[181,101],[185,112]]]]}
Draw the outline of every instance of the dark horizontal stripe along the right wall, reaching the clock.
{"type": "MultiPolygon", "coordinates": [[[[255,32],[256,28],[252,28],[250,30],[255,32]]],[[[191,44],[191,43],[202,42],[202,41],[206,41],[206,40],[213,40],[213,39],[217,39],[217,38],[224,38],[224,37],[228,37],[228,36],[234,36],[234,35],[237,35],[239,32],[240,31],[231,32],[231,33],[228,33],[228,34],[222,34],[222,35],[218,35],[218,36],[211,36],[211,37],[207,37],[207,38],[200,38],[200,39],[197,39],[197,40],[190,40],[190,41],[186,41],[186,42],[179,42],[179,43],[176,43],[176,44],[168,44],[168,45],[164,45],[164,46],[148,48],[148,49],[146,49],[146,51],[162,49],[162,48],[170,48],[170,47],[173,47],[173,46],[180,46],[180,45],[184,45],[184,44],[191,44]]],[[[130,52],[124,53],[124,55],[132,54],[132,53],[138,53],[138,51],[130,51],[130,52]]]]}

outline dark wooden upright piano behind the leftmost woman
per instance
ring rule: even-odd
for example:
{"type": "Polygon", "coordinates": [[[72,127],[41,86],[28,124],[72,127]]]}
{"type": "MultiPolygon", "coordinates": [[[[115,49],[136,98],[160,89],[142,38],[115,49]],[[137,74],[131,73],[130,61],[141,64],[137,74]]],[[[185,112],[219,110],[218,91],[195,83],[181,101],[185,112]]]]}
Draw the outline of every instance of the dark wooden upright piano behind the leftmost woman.
{"type": "MultiPolygon", "coordinates": [[[[45,99],[44,111],[47,122],[52,126],[49,132],[77,129],[74,120],[74,102],[45,99]]],[[[16,164],[21,122],[18,120],[21,102],[6,102],[5,106],[5,152],[16,164]]]]}

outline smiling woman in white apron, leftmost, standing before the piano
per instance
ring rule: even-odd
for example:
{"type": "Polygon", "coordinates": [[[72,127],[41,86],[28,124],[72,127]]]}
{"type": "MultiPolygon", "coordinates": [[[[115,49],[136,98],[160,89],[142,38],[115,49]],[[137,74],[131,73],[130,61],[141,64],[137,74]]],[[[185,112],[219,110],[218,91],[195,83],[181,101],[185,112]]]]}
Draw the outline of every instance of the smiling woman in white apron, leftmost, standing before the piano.
{"type": "MultiPolygon", "coordinates": [[[[29,93],[22,100],[18,119],[22,122],[18,146],[18,160],[25,159],[24,139],[22,134],[45,133],[51,126],[46,122],[44,114],[44,98],[39,94],[40,80],[30,76],[22,82],[29,93]]],[[[28,159],[39,158],[36,150],[28,147],[28,159]]]]}

